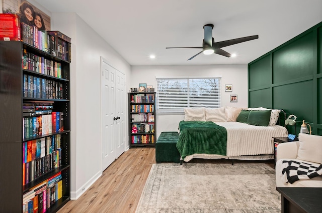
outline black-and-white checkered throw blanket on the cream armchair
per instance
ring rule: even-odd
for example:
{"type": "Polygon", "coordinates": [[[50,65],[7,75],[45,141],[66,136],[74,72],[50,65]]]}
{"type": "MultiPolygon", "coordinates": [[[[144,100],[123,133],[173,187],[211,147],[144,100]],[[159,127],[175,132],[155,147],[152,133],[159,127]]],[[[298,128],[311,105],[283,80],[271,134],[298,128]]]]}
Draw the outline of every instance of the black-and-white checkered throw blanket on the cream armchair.
{"type": "Polygon", "coordinates": [[[294,183],[297,180],[305,180],[322,175],[322,164],[318,167],[309,163],[294,160],[283,160],[283,181],[294,183]]]}

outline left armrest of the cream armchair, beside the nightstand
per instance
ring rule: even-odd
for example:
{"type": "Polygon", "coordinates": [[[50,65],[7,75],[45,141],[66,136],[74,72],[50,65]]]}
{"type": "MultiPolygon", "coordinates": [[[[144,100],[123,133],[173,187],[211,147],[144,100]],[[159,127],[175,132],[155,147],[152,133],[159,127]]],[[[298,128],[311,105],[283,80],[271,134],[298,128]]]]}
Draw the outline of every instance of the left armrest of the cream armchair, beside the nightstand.
{"type": "Polygon", "coordinates": [[[282,158],[296,159],[298,147],[298,141],[278,144],[276,150],[276,161],[282,158]]]}

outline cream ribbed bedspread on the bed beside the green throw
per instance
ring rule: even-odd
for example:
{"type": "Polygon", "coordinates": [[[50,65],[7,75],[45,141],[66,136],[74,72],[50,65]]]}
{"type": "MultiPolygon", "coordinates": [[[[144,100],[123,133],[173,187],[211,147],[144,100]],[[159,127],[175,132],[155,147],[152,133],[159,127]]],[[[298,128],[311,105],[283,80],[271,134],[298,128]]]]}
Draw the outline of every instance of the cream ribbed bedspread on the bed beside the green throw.
{"type": "Polygon", "coordinates": [[[185,157],[188,162],[192,158],[206,159],[243,159],[248,158],[245,155],[262,155],[258,158],[249,159],[273,159],[274,143],[273,137],[287,137],[287,129],[280,125],[275,126],[254,126],[240,122],[216,122],[227,130],[227,149],[226,156],[193,154],[185,157]]]}

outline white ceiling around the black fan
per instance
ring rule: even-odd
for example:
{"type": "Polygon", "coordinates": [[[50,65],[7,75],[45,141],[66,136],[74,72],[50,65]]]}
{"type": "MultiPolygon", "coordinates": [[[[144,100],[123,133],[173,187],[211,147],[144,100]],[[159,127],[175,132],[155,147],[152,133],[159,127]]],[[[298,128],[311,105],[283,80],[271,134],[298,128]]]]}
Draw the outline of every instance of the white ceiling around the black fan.
{"type": "Polygon", "coordinates": [[[322,21],[321,0],[36,0],[51,13],[74,12],[130,65],[248,64],[322,21]],[[237,57],[200,54],[203,26],[215,42],[259,35],[222,48],[237,57]],[[155,59],[149,59],[154,54],[155,59]]]}

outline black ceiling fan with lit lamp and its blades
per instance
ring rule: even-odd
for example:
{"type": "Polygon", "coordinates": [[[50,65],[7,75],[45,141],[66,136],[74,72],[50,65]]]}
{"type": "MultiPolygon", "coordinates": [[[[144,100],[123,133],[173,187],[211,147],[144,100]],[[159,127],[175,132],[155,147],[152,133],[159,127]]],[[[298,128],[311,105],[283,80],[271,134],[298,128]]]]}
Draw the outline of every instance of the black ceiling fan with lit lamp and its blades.
{"type": "Polygon", "coordinates": [[[247,42],[253,39],[258,39],[258,35],[256,36],[247,36],[247,37],[241,37],[238,39],[231,39],[231,40],[226,40],[226,41],[222,41],[222,42],[215,42],[214,39],[212,38],[212,29],[213,29],[213,25],[212,24],[207,24],[205,26],[203,26],[203,29],[205,31],[205,38],[202,42],[202,47],[166,47],[166,49],[173,49],[173,48],[194,48],[194,49],[202,49],[201,52],[197,53],[196,55],[194,55],[193,57],[191,57],[189,60],[195,58],[196,56],[198,56],[200,53],[204,53],[205,55],[210,55],[210,54],[218,54],[218,55],[222,55],[225,57],[230,57],[230,53],[227,53],[226,51],[222,50],[222,47],[227,47],[230,45],[234,45],[234,44],[238,44],[241,42],[247,42]]]}

